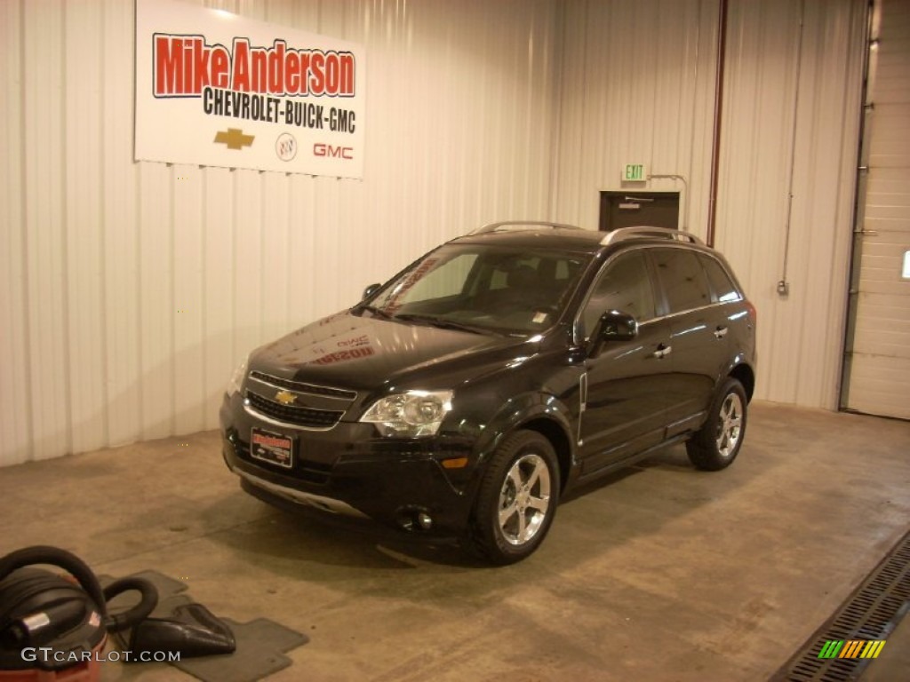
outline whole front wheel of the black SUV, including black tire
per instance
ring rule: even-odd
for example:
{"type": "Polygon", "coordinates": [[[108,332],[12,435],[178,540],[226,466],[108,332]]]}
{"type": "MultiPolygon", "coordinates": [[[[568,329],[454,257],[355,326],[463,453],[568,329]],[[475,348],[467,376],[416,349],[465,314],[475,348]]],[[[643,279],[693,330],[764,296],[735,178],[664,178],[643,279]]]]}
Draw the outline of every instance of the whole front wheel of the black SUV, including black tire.
{"type": "Polygon", "coordinates": [[[496,449],[473,512],[473,544],[504,566],[531,556],[550,530],[560,496],[560,469],[550,441],[517,431],[496,449]]]}

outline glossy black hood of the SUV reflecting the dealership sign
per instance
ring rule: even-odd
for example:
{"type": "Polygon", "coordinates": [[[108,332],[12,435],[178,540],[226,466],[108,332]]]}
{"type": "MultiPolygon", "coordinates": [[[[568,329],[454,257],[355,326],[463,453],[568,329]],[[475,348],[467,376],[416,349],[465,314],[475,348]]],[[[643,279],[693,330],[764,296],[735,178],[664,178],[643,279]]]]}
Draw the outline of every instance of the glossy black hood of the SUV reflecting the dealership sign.
{"type": "MultiPolygon", "coordinates": [[[[250,356],[250,369],[295,381],[354,390],[411,384],[431,375],[436,388],[443,366],[473,367],[508,361],[513,348],[528,339],[440,329],[410,322],[352,315],[349,311],[325,317],[250,356]]],[[[399,386],[410,387],[410,386],[399,386]]]]}

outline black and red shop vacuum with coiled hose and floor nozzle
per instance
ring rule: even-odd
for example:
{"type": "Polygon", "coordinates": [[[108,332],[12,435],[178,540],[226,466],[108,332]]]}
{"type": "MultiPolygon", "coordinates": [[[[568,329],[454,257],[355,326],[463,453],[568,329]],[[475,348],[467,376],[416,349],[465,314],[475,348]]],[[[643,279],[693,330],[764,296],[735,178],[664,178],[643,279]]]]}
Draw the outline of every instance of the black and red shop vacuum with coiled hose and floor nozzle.
{"type": "Polygon", "coordinates": [[[0,682],[96,682],[108,633],[126,644],[132,660],[155,660],[142,652],[234,651],[230,628],[206,607],[186,604],[170,617],[149,617],[157,601],[156,587],[141,577],[102,588],[80,558],[57,547],[26,547],[0,558],[0,682]],[[62,568],[69,577],[36,565],[62,568]],[[135,606],[108,613],[108,602],[131,591],[139,595],[135,606]]]}

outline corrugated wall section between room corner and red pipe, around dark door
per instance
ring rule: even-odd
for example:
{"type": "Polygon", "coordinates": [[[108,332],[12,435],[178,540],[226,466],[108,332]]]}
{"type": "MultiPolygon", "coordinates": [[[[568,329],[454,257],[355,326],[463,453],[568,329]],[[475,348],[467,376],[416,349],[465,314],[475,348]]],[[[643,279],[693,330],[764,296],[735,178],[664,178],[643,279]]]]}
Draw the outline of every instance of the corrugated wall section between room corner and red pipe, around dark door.
{"type": "MultiPolygon", "coordinates": [[[[681,226],[707,223],[717,0],[566,3],[555,212],[597,229],[602,190],[644,163],[680,191],[681,226]],[[688,186],[688,189],[687,187],[688,186]]],[[[639,184],[632,186],[635,189],[639,184]]]]}

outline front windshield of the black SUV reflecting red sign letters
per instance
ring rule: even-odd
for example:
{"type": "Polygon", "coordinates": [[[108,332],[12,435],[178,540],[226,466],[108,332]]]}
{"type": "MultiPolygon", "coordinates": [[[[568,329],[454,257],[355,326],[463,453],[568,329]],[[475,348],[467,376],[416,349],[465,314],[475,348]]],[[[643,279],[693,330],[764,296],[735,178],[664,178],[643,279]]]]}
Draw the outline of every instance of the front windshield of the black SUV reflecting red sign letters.
{"type": "Polygon", "coordinates": [[[392,319],[509,334],[540,332],[565,306],[588,256],[441,246],[364,306],[392,319]]]}

